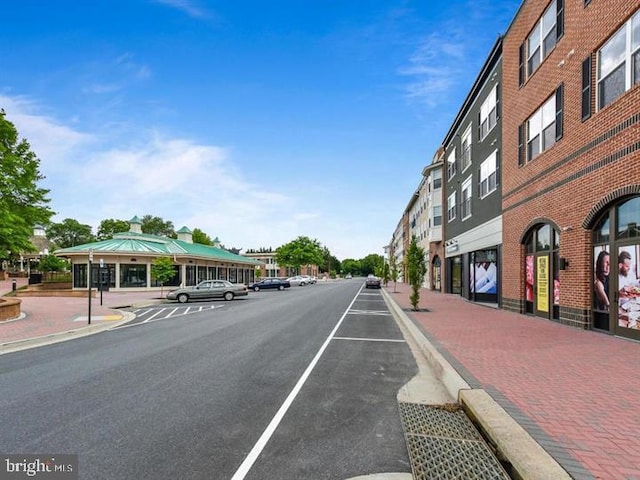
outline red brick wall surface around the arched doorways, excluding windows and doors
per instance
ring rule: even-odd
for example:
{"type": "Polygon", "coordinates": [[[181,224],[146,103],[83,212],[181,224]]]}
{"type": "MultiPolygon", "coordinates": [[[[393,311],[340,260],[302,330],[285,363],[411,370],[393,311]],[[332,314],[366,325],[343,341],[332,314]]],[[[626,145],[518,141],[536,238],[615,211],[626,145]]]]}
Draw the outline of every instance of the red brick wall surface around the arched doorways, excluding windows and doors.
{"type": "Polygon", "coordinates": [[[564,31],[520,85],[521,45],[549,4],[525,0],[503,42],[503,307],[524,311],[524,242],[531,228],[547,223],[559,235],[559,257],[568,261],[559,271],[556,320],[591,328],[593,222],[616,201],[640,193],[640,83],[599,110],[597,52],[640,9],[640,0],[561,2],[564,31]],[[583,120],[582,72],[588,58],[591,110],[583,120]],[[521,164],[519,126],[560,86],[561,138],[521,164]]]}

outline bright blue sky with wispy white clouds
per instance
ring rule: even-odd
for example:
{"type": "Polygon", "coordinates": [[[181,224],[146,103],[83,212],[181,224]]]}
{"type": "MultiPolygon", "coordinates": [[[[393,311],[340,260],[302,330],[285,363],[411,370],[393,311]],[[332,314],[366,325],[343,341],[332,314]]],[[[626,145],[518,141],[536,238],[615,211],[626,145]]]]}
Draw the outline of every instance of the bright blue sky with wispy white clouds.
{"type": "Polygon", "coordinates": [[[516,0],[0,0],[53,221],[383,254],[516,0]]]}

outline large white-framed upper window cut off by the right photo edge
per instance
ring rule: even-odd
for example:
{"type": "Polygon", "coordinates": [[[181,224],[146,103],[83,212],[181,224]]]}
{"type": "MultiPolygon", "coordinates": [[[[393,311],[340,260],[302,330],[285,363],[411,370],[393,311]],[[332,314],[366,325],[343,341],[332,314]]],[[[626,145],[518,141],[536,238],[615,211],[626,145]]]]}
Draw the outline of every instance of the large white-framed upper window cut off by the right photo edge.
{"type": "Polygon", "coordinates": [[[640,12],[598,50],[598,108],[640,81],[640,12]]]}

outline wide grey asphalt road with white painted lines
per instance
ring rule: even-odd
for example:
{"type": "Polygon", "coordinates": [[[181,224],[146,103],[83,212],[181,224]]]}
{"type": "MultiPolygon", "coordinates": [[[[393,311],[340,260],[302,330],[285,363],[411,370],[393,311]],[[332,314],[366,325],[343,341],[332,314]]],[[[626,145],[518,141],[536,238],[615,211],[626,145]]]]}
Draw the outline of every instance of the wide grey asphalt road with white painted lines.
{"type": "Polygon", "coordinates": [[[396,394],[417,366],[378,290],[177,306],[0,357],[0,452],[78,454],[82,479],[411,471],[396,394]]]}

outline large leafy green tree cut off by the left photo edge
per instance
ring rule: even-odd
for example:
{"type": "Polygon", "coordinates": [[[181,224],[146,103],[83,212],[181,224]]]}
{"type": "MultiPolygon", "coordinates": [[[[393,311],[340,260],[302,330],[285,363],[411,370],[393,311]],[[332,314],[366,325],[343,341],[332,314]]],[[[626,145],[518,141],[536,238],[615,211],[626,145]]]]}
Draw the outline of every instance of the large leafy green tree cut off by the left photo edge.
{"type": "Polygon", "coordinates": [[[18,131],[0,109],[0,258],[8,252],[34,250],[33,227],[49,222],[49,190],[38,187],[45,177],[40,160],[29,143],[18,140],[18,131]]]}

